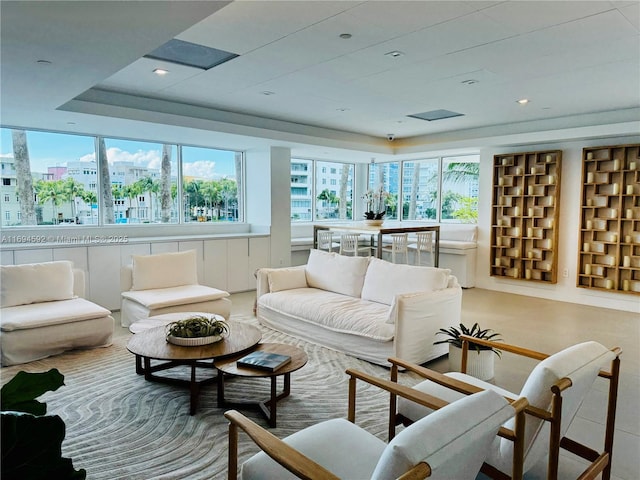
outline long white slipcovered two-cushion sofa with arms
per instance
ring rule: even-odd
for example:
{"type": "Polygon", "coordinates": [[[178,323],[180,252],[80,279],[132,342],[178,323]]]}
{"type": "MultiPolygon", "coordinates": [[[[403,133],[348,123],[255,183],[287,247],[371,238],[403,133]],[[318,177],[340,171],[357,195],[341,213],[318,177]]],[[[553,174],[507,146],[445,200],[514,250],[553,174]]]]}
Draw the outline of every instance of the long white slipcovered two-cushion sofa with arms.
{"type": "Polygon", "coordinates": [[[435,333],[460,323],[462,289],[442,268],[311,250],[306,265],[257,272],[260,323],[379,365],[448,352],[435,333]]]}

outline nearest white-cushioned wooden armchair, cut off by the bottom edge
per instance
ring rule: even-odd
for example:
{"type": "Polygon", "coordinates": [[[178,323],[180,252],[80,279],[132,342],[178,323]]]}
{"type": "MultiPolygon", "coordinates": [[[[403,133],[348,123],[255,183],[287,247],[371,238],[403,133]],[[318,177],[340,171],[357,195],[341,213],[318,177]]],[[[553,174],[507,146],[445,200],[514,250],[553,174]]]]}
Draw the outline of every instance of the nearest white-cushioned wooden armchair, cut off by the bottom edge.
{"type": "MultiPolygon", "coordinates": [[[[237,411],[229,420],[228,478],[238,473],[242,430],[262,450],[242,464],[243,480],[258,479],[474,479],[501,427],[521,418],[526,400],[511,403],[491,391],[447,404],[436,397],[363,372],[347,370],[348,418],[311,425],[283,440],[237,411]],[[388,444],[355,424],[356,381],[364,380],[396,395],[408,395],[436,408],[433,415],[404,429],[388,444]]],[[[519,424],[522,421],[518,422],[519,424]]]]}

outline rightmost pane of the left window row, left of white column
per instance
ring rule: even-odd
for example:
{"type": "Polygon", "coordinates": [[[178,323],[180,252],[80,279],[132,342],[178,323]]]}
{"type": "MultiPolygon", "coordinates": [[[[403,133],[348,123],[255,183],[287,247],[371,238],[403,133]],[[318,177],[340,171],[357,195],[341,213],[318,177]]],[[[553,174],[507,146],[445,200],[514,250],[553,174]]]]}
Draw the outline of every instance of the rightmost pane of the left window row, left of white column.
{"type": "Polygon", "coordinates": [[[185,222],[238,222],[242,154],[182,147],[182,205],[185,222]]]}

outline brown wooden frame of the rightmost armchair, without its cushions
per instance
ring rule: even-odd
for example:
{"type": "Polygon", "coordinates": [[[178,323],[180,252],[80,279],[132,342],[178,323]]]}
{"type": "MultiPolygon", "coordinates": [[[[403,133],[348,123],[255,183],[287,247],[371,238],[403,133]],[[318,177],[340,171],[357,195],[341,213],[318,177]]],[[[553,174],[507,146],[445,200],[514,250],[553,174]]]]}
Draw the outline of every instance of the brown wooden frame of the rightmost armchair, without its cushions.
{"type": "MultiPolygon", "coordinates": [[[[469,337],[467,335],[461,335],[462,339],[462,365],[460,371],[466,373],[467,370],[467,355],[469,353],[470,344],[485,345],[488,347],[494,347],[502,350],[503,352],[509,352],[515,355],[520,355],[535,360],[544,360],[550,355],[546,353],[537,352],[534,350],[528,350],[526,348],[518,347],[516,345],[509,345],[505,343],[492,342],[489,340],[482,340],[475,337],[469,337]]],[[[560,457],[560,448],[578,455],[579,457],[591,462],[589,467],[582,472],[578,480],[589,480],[596,478],[602,473],[602,480],[609,480],[611,478],[611,456],[613,452],[613,435],[615,429],[615,417],[616,417],[616,404],[618,398],[618,382],[620,378],[620,355],[622,350],[619,347],[614,347],[611,351],[615,354],[615,358],[611,362],[611,368],[609,371],[600,370],[599,377],[605,378],[609,381],[609,398],[607,402],[607,420],[606,430],[604,438],[604,450],[597,452],[586,445],[572,440],[568,437],[561,438],[561,425],[562,425],[562,392],[571,387],[571,380],[569,378],[560,379],[551,387],[552,403],[550,410],[544,410],[540,408],[527,405],[525,413],[534,417],[543,419],[550,423],[550,436],[549,436],[549,462],[547,465],[547,480],[557,480],[558,478],[558,463],[560,457]]],[[[457,392],[471,395],[479,392],[482,388],[475,385],[471,385],[439,372],[435,372],[425,367],[415,365],[409,362],[405,362],[398,358],[390,358],[391,362],[391,381],[398,381],[398,369],[402,368],[407,371],[417,373],[426,380],[431,380],[444,387],[451,388],[457,392]]],[[[507,398],[507,397],[505,397],[507,398]]],[[[507,398],[509,401],[513,401],[512,398],[507,398]]],[[[393,438],[395,435],[395,428],[399,424],[407,425],[411,421],[402,415],[397,413],[397,397],[391,393],[391,399],[389,402],[389,438],[393,438]]],[[[523,447],[523,446],[522,446],[523,447]]],[[[522,467],[524,459],[522,458],[523,451],[521,450],[518,455],[521,455],[519,460],[519,471],[513,469],[513,477],[509,477],[505,473],[499,471],[487,463],[484,464],[481,472],[498,480],[521,479],[522,467]]],[[[514,466],[515,466],[514,460],[514,466]]]]}

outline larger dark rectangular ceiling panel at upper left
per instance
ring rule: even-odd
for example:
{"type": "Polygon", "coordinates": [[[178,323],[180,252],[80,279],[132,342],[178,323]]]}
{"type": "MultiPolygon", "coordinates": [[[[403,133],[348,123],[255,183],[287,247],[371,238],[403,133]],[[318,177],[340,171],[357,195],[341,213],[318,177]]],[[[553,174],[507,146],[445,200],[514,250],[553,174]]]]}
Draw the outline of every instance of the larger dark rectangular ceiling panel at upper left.
{"type": "Polygon", "coordinates": [[[202,70],[209,70],[237,56],[235,53],[198,45],[197,43],[185,42],[177,38],[169,40],[153,52],[145,55],[146,58],[177,63],[202,70]]]}

